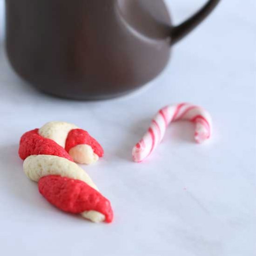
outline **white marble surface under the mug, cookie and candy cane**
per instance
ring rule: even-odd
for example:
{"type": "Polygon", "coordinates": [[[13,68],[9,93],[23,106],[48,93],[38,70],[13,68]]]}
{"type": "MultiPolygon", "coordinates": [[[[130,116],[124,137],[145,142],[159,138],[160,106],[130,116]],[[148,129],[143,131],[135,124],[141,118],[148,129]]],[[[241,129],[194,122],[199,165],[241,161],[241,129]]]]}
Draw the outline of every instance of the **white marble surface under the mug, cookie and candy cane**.
{"type": "MultiPolygon", "coordinates": [[[[168,5],[179,21],[202,2],[168,5]]],[[[255,255],[254,14],[254,0],[222,1],[174,47],[161,76],[135,94],[110,101],[66,101],[40,94],[13,73],[2,42],[1,255],[255,255]],[[131,148],[152,115],[179,101],[209,110],[212,140],[197,145],[193,125],[175,123],[147,162],[132,162],[131,148]],[[84,168],[111,200],[112,224],[62,213],[23,174],[17,155],[20,135],[49,120],[74,122],[101,141],[105,157],[84,168]]]]}

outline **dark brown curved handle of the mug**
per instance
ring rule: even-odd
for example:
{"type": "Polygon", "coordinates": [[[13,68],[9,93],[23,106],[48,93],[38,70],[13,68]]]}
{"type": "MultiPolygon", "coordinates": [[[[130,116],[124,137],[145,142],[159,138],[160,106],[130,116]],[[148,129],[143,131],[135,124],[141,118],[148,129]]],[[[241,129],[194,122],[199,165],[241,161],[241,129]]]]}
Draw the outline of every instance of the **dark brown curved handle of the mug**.
{"type": "Polygon", "coordinates": [[[217,6],[220,0],[209,0],[197,13],[195,13],[188,20],[184,21],[178,26],[172,27],[171,30],[171,44],[181,40],[184,36],[189,34],[197,25],[199,25],[217,6]]]}

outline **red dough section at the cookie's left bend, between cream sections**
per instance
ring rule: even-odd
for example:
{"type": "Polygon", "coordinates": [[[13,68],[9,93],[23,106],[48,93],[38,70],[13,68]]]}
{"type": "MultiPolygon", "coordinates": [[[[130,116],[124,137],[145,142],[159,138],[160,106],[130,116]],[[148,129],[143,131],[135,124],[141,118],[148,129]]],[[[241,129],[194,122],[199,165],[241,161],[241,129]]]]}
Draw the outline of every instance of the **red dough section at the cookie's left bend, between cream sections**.
{"type": "Polygon", "coordinates": [[[39,129],[34,129],[20,138],[19,155],[25,160],[29,155],[56,155],[67,158],[73,162],[72,157],[59,144],[38,134],[39,129]]]}

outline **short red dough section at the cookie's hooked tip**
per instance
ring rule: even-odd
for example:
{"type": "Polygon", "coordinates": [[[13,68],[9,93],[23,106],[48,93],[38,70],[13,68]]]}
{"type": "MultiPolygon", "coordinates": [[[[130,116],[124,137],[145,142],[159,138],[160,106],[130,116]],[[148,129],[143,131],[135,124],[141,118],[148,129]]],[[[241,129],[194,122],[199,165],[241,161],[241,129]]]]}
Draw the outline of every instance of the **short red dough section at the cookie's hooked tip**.
{"type": "Polygon", "coordinates": [[[73,129],[67,135],[65,149],[67,152],[77,145],[86,144],[92,147],[95,154],[99,157],[104,155],[104,150],[92,136],[88,134],[87,131],[82,129],[73,129]]]}

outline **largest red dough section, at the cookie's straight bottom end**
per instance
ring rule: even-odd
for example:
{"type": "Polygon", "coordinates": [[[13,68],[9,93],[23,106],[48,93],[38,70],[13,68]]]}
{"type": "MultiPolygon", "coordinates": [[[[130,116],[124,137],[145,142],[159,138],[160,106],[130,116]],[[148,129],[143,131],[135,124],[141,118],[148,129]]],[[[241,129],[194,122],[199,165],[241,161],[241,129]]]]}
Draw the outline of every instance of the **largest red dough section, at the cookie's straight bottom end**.
{"type": "Polygon", "coordinates": [[[59,175],[42,177],[38,182],[40,193],[59,209],[70,213],[95,210],[111,222],[113,211],[107,198],[85,182],[59,175]]]}

